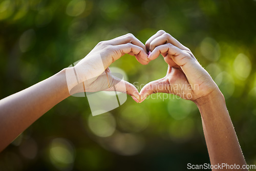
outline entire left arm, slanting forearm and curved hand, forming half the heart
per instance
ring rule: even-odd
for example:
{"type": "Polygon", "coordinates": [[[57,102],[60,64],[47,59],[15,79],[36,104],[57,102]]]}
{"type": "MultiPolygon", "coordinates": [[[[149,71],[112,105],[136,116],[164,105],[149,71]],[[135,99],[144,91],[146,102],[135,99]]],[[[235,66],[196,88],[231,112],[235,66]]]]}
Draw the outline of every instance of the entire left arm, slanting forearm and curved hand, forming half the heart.
{"type": "Polygon", "coordinates": [[[125,87],[116,87],[116,91],[127,93],[138,102],[138,90],[133,84],[120,80],[109,71],[109,66],[124,54],[134,55],[143,65],[147,59],[144,44],[132,34],[126,34],[112,40],[99,42],[97,46],[76,66],[65,68],[57,74],[33,86],[0,100],[0,152],[34,121],[49,111],[54,105],[70,96],[66,73],[76,71],[79,82],[71,82],[71,90],[79,92],[76,87],[84,84],[84,89],[90,92],[100,90],[114,91],[111,86],[123,82],[125,87]],[[95,60],[95,54],[100,54],[100,61],[95,60]],[[99,67],[103,64],[103,68],[99,67]],[[102,74],[108,78],[102,77],[102,74]],[[97,85],[97,88],[96,88],[97,85]]]}

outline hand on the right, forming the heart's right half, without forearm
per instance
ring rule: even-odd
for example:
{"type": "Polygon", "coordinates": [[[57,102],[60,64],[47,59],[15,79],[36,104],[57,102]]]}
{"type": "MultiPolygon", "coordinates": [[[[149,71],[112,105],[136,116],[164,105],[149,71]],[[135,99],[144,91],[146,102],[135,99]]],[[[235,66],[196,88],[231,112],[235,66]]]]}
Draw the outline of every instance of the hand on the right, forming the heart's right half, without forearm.
{"type": "Polygon", "coordinates": [[[165,77],[142,88],[140,102],[153,93],[171,93],[200,103],[203,97],[220,93],[217,84],[191,51],[170,34],[158,31],[146,41],[146,48],[152,51],[148,59],[154,60],[161,54],[168,63],[168,70],[165,77]]]}

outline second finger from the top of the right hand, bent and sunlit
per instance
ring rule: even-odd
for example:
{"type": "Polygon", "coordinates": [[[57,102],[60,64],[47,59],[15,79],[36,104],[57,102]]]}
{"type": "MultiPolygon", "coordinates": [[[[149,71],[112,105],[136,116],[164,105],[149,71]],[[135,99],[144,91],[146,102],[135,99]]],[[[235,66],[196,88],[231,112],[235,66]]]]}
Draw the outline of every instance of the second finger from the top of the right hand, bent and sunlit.
{"type": "Polygon", "coordinates": [[[169,33],[164,33],[161,36],[158,36],[154,40],[152,40],[151,44],[150,44],[150,51],[153,51],[159,45],[164,45],[167,43],[173,44],[174,46],[176,46],[182,50],[190,51],[187,47],[182,45],[178,40],[176,40],[169,33]]]}

